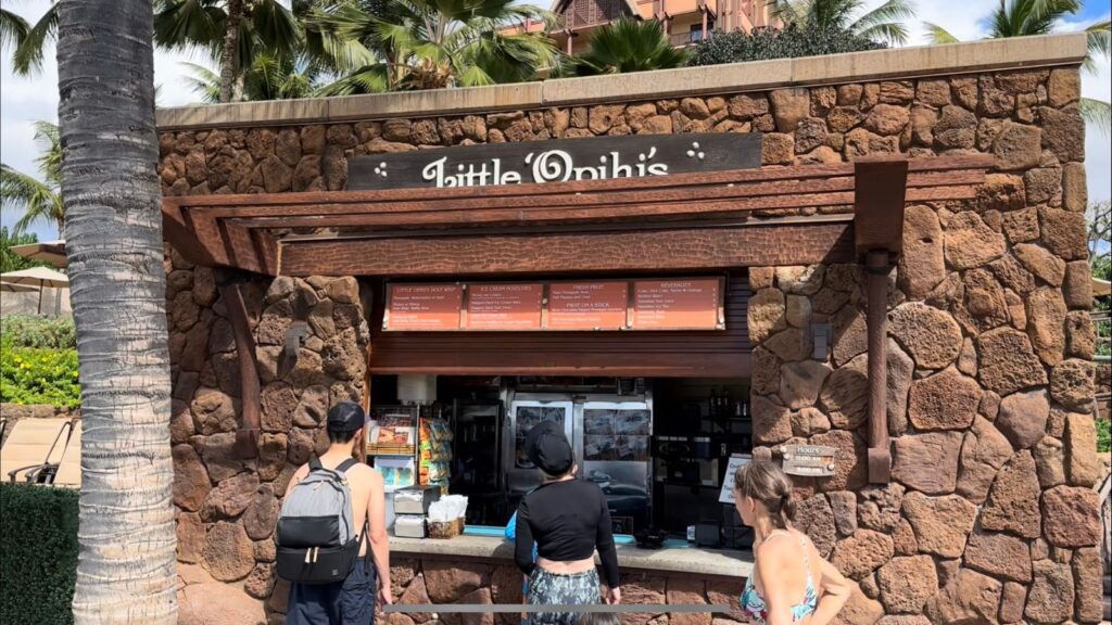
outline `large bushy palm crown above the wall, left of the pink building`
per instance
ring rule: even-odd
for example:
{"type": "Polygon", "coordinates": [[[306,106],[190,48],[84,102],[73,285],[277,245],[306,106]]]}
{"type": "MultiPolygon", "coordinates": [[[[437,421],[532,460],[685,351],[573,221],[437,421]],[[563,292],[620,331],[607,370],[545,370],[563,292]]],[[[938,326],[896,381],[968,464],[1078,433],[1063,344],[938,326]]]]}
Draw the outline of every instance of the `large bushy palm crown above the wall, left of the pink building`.
{"type": "Polygon", "coordinates": [[[555,67],[559,52],[547,37],[514,32],[525,20],[552,13],[514,0],[318,1],[307,11],[311,37],[363,44],[375,58],[344,72],[325,96],[396,89],[477,87],[532,80],[555,67]]]}

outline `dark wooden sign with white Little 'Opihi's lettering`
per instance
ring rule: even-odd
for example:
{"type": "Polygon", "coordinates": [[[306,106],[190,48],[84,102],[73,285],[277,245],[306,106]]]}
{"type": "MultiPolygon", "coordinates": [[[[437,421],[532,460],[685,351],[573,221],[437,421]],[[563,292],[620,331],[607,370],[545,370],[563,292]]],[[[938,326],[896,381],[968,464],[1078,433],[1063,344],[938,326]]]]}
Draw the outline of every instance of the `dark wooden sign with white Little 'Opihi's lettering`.
{"type": "Polygon", "coordinates": [[[543,185],[756,167],[759,132],[636,135],[355,157],[348,189],[543,185]]]}

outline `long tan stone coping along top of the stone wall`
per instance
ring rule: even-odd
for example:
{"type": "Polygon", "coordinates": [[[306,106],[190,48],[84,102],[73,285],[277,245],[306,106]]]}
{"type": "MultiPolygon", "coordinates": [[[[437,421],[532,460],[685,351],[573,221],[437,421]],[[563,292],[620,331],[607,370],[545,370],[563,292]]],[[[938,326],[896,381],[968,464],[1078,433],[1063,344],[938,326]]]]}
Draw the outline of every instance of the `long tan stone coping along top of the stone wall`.
{"type": "Polygon", "coordinates": [[[156,118],[160,131],[294,126],[1075,66],[1085,57],[1085,41],[1081,32],[994,39],[494,87],[177,107],[159,109],[156,118]]]}

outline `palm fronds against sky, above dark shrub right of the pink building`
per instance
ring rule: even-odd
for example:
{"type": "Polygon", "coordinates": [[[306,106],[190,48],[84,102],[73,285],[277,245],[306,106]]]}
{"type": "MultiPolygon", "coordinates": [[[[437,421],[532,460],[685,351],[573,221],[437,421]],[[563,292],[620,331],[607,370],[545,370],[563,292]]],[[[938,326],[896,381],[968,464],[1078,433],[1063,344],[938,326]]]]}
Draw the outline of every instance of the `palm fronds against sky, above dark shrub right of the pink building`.
{"type": "Polygon", "coordinates": [[[886,0],[868,11],[865,0],[774,0],[773,16],[785,24],[842,30],[880,43],[907,42],[903,20],[915,17],[910,0],[886,0]]]}

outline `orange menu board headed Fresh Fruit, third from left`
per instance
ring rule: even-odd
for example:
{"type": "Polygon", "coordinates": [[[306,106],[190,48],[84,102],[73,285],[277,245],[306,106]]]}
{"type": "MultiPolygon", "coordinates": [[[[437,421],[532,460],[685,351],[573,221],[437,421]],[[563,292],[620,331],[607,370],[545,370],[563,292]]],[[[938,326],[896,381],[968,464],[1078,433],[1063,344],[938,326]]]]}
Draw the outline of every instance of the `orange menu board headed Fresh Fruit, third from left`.
{"type": "Polygon", "coordinates": [[[548,286],[549,330],[626,327],[629,282],[554,282],[548,286]]]}

